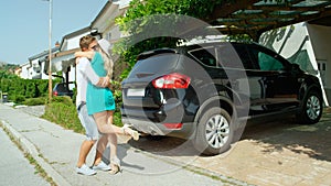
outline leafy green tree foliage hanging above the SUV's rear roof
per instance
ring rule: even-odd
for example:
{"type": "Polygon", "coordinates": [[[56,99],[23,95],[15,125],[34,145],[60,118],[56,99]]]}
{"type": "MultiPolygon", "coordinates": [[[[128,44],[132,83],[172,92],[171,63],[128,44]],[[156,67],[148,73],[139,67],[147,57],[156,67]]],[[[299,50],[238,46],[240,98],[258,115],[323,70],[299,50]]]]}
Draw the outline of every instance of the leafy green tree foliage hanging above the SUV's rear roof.
{"type": "MultiPolygon", "coordinates": [[[[195,20],[207,19],[216,6],[233,0],[132,0],[124,17],[116,19],[120,31],[128,35],[117,42],[114,52],[122,56],[129,66],[124,72],[124,77],[136,63],[136,56],[148,50],[171,47],[181,41],[182,33],[186,30],[183,25],[194,24],[195,20]],[[190,22],[191,21],[191,22],[190,22]],[[164,25],[167,26],[164,29],[164,25]],[[154,35],[151,34],[157,33],[154,35]],[[175,36],[173,36],[175,35],[175,36]]],[[[188,26],[186,26],[188,28],[188,26]]],[[[194,28],[193,28],[194,29],[194,28]]],[[[192,29],[192,30],[193,30],[192,29]]],[[[188,34],[188,33],[185,33],[188,34]]],[[[194,37],[196,33],[190,35],[194,37]]],[[[188,36],[188,35],[185,35],[188,36]]]]}

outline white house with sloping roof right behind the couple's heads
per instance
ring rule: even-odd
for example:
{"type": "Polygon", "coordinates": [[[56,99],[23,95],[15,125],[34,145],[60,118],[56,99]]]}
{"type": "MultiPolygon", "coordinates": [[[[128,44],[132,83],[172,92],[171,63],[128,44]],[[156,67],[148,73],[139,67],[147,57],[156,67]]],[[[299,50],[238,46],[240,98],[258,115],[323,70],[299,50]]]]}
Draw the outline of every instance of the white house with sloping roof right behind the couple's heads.
{"type": "MultiPolygon", "coordinates": [[[[115,24],[115,19],[125,13],[130,1],[131,0],[121,0],[116,2],[107,1],[89,26],[63,36],[60,45],[60,52],[55,53],[52,57],[52,65],[55,72],[62,72],[64,81],[67,83],[76,80],[74,53],[81,50],[79,39],[82,36],[92,34],[97,39],[106,39],[110,42],[110,44],[122,36],[119,28],[115,24]]],[[[113,58],[114,61],[117,59],[116,56],[113,56],[113,58]]]]}

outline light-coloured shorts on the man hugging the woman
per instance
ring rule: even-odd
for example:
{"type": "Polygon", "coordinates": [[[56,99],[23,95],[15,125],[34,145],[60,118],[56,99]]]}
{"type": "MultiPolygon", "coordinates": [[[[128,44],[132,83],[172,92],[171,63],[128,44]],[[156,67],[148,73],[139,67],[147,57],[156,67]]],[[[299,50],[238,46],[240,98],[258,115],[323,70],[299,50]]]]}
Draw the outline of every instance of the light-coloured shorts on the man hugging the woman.
{"type": "Polygon", "coordinates": [[[78,118],[85,129],[86,140],[98,140],[99,132],[93,117],[87,113],[86,103],[81,103],[77,108],[78,118]]]}

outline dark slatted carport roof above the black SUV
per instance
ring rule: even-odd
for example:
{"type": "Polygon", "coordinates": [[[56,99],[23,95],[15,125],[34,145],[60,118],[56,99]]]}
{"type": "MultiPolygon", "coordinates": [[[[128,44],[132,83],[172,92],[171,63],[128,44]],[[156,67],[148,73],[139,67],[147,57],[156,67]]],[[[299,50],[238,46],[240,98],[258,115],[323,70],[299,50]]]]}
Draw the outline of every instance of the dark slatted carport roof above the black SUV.
{"type": "Polygon", "coordinates": [[[223,1],[205,19],[223,34],[265,31],[308,21],[331,25],[331,0],[235,0],[223,1]]]}

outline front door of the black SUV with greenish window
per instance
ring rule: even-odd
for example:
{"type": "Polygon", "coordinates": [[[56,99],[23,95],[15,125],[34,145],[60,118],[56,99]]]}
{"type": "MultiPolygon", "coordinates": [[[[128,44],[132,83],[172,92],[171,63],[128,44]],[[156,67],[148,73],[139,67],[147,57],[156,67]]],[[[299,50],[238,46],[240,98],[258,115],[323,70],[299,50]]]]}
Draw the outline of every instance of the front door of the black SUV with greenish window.
{"type": "Polygon", "coordinates": [[[284,111],[298,106],[299,81],[288,61],[263,46],[247,47],[256,66],[264,90],[264,109],[284,111]]]}

